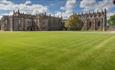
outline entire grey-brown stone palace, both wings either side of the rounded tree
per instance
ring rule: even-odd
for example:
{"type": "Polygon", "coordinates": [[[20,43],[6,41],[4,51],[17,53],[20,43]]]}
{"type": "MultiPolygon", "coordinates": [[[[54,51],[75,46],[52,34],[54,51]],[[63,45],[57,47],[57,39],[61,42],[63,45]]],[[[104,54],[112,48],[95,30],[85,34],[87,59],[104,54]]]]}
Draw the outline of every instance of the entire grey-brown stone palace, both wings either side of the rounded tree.
{"type": "MultiPolygon", "coordinates": [[[[89,12],[73,14],[82,21],[79,23],[79,30],[99,30],[107,29],[107,12],[89,12]]],[[[3,16],[0,20],[0,30],[2,31],[59,31],[63,30],[64,20],[62,17],[39,14],[31,15],[13,11],[12,16],[3,16]]]]}

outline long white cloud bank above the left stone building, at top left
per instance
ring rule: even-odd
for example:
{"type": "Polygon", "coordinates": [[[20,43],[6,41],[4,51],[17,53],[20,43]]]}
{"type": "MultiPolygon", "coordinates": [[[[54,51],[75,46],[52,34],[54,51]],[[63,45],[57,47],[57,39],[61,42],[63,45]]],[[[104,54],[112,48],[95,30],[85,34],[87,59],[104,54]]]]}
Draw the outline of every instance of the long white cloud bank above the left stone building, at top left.
{"type": "Polygon", "coordinates": [[[41,4],[32,4],[31,1],[26,1],[25,3],[21,3],[21,4],[15,4],[11,1],[0,0],[0,10],[13,11],[18,9],[21,12],[32,13],[32,14],[39,14],[48,11],[47,6],[43,6],[41,4]]]}

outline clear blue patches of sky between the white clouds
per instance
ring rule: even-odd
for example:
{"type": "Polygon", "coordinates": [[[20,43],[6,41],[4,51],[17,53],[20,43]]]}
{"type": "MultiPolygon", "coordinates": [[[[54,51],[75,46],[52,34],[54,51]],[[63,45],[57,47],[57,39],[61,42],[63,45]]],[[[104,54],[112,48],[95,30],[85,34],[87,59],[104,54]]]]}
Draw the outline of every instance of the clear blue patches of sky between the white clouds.
{"type": "MultiPolygon", "coordinates": [[[[67,0],[10,0],[15,4],[25,3],[25,1],[31,1],[32,4],[41,4],[43,6],[48,6],[48,10],[52,13],[55,13],[57,11],[63,11],[60,9],[60,7],[65,6],[67,0]]],[[[74,11],[80,11],[79,3],[80,0],[76,0],[76,6],[74,8],[74,11]]]]}

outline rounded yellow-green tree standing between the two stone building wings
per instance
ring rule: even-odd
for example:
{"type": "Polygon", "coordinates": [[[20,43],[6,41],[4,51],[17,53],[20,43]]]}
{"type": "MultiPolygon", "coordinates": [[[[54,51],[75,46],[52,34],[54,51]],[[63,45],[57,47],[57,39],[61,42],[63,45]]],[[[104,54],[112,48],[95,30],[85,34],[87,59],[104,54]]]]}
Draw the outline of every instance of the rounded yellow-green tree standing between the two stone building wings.
{"type": "Polygon", "coordinates": [[[77,15],[71,15],[65,22],[65,28],[67,30],[78,30],[81,20],[77,15]]]}

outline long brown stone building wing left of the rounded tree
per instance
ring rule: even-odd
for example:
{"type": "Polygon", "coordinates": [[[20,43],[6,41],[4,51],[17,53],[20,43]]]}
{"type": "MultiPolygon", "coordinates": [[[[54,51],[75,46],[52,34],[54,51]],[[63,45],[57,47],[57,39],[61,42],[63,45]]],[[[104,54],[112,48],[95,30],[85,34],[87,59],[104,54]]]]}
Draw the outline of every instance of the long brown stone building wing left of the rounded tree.
{"type": "Polygon", "coordinates": [[[31,15],[13,12],[12,16],[3,16],[0,20],[2,31],[52,31],[62,30],[61,17],[48,16],[45,13],[31,15]]]}

